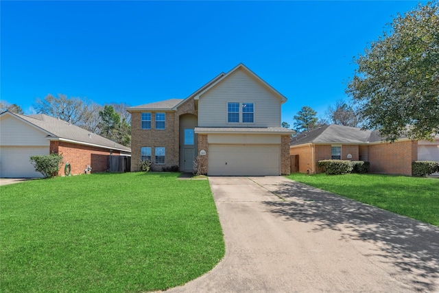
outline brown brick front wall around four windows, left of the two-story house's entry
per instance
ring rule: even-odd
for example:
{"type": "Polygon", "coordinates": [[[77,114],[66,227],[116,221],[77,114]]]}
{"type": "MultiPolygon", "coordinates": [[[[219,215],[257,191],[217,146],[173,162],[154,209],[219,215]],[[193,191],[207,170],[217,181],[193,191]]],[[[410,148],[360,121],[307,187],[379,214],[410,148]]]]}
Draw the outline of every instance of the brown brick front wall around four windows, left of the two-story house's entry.
{"type": "MultiPolygon", "coordinates": [[[[152,171],[161,171],[163,167],[178,166],[180,164],[180,115],[188,113],[197,115],[193,99],[187,100],[176,111],[165,112],[164,130],[155,129],[155,112],[148,110],[144,112],[151,113],[151,129],[141,129],[141,112],[131,113],[131,172],[140,171],[141,147],[151,147],[152,171]],[[154,150],[158,147],[165,148],[165,165],[155,164],[154,150]]],[[[164,111],[157,112],[163,113],[164,111]]]]}

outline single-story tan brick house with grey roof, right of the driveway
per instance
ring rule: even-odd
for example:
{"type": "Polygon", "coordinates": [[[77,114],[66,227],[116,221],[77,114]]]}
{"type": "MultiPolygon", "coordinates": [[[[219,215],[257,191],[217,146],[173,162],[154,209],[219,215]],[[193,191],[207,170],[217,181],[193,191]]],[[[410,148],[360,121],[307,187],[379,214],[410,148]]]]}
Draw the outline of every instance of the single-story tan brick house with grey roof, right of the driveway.
{"type": "Polygon", "coordinates": [[[289,154],[298,155],[301,173],[320,172],[320,160],[341,159],[369,161],[370,173],[412,175],[413,161],[439,162],[439,137],[434,142],[401,138],[390,143],[377,130],[332,124],[293,137],[289,154]]]}

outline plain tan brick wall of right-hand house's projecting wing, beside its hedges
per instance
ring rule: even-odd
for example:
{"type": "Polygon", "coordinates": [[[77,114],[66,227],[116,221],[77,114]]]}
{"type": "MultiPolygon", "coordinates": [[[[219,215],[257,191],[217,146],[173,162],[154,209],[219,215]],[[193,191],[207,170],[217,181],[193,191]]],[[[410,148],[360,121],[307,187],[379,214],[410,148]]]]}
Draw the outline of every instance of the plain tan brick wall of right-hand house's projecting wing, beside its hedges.
{"type": "Polygon", "coordinates": [[[412,175],[412,162],[417,159],[416,141],[377,143],[368,146],[370,173],[412,175]]]}

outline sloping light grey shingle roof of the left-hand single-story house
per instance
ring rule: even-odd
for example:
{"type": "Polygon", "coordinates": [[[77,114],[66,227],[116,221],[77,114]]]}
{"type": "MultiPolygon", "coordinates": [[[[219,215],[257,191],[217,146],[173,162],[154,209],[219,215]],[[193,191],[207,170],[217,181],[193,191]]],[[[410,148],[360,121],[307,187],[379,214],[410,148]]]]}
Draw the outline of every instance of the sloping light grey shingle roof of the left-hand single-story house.
{"type": "Polygon", "coordinates": [[[10,115],[16,119],[19,119],[26,124],[41,130],[47,134],[49,140],[60,140],[71,143],[79,143],[83,145],[92,145],[99,148],[106,148],[110,150],[121,150],[123,152],[131,152],[131,149],[125,145],[115,143],[110,139],[101,137],[100,135],[91,133],[88,130],[69,124],[64,120],[50,117],[45,114],[36,115],[20,115],[5,111],[0,116],[10,115]]]}

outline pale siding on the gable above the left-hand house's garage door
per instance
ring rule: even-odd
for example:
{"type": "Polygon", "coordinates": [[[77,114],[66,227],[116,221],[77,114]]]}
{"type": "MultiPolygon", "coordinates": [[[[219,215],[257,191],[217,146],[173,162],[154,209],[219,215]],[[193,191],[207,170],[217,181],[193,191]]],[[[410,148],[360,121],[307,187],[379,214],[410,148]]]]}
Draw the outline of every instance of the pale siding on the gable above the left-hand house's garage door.
{"type": "Polygon", "coordinates": [[[6,145],[49,146],[50,141],[45,139],[47,134],[34,126],[5,115],[0,120],[0,141],[6,145]]]}

